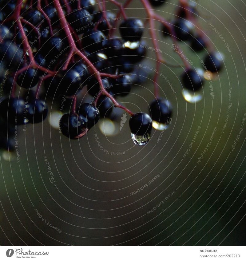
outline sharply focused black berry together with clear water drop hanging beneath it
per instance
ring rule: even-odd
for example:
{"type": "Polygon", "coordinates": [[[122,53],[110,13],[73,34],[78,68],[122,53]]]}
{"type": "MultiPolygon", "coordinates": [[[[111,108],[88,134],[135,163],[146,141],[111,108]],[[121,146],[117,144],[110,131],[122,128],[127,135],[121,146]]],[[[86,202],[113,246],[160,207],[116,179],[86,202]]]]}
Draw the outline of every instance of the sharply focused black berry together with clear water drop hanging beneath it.
{"type": "Polygon", "coordinates": [[[129,120],[132,139],[137,145],[145,145],[150,140],[152,120],[147,113],[134,114],[129,120]]]}

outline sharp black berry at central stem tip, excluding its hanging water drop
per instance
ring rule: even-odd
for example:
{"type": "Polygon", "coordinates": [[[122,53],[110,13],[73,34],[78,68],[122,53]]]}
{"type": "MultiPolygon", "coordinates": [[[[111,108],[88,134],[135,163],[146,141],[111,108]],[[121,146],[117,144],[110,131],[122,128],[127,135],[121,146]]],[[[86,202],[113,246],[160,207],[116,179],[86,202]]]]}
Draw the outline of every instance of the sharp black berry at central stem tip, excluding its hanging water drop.
{"type": "Polygon", "coordinates": [[[147,113],[136,113],[129,120],[131,133],[137,136],[144,136],[151,133],[152,120],[147,113]]]}

